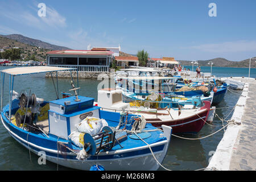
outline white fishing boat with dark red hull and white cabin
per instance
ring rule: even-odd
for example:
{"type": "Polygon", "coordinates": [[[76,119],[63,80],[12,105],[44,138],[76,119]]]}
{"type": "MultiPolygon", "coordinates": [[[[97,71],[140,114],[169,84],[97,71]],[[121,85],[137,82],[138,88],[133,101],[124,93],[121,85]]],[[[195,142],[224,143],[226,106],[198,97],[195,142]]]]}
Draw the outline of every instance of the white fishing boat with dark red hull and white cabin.
{"type": "Polygon", "coordinates": [[[94,105],[105,111],[142,115],[147,123],[159,128],[163,124],[171,126],[172,133],[176,134],[198,133],[207,121],[210,111],[209,101],[204,101],[200,107],[184,105],[183,109],[150,108],[152,101],[143,102],[143,105],[139,101],[134,101],[134,104],[123,102],[121,89],[106,88],[98,90],[98,101],[94,102],[94,105]]]}

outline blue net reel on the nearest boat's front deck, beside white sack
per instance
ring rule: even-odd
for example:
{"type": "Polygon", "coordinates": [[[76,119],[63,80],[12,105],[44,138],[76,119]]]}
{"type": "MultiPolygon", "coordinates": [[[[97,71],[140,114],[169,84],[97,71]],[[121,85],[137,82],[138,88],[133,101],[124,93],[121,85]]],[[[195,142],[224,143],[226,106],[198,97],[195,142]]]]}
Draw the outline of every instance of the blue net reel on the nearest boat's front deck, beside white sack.
{"type": "Polygon", "coordinates": [[[101,133],[84,135],[84,150],[90,155],[97,155],[102,149],[109,151],[113,148],[115,142],[115,131],[110,127],[103,127],[101,133]]]}

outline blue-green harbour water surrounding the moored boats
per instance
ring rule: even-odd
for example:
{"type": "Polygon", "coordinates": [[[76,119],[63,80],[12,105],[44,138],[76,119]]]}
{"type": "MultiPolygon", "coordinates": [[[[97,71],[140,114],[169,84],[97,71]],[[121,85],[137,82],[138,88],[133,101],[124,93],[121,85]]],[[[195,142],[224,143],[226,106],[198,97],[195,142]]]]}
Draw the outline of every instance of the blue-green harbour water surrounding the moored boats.
{"type": "MultiPolygon", "coordinates": [[[[7,69],[11,67],[0,67],[7,69]]],[[[189,68],[189,67],[186,67],[189,68]]],[[[191,69],[191,68],[190,68],[191,69]]],[[[194,69],[196,69],[194,67],[194,69]]],[[[209,72],[209,67],[201,67],[202,72],[209,72]]],[[[246,68],[212,68],[212,74],[218,77],[228,76],[245,76],[248,75],[246,68]]],[[[251,69],[251,77],[256,77],[256,69],[251,69]]],[[[76,79],[74,80],[76,83],[76,79]]],[[[56,78],[54,78],[56,84],[56,78]]],[[[69,92],[71,84],[69,79],[59,78],[59,92],[69,92]]],[[[97,79],[80,79],[79,87],[80,95],[93,97],[97,101],[97,85],[100,83],[97,79]]],[[[5,77],[5,94],[3,105],[9,101],[9,77],[5,77]]],[[[51,78],[44,77],[44,73],[29,76],[17,76],[14,78],[14,90],[20,93],[26,90],[27,93],[35,93],[36,97],[44,98],[51,101],[56,99],[56,92],[51,78]]],[[[217,106],[216,113],[221,118],[230,119],[232,116],[232,107],[236,105],[241,91],[228,91],[224,100],[217,106]],[[226,107],[226,108],[222,108],[226,107]],[[220,109],[218,109],[220,108],[220,109]]],[[[70,92],[69,92],[70,93],[70,92]]],[[[61,97],[61,96],[60,96],[61,97]]],[[[225,123],[224,123],[225,124],[225,123]]],[[[213,126],[205,125],[197,135],[184,135],[187,138],[200,138],[214,133],[222,126],[222,122],[218,118],[214,118],[213,126]]],[[[172,170],[195,170],[208,166],[210,157],[214,154],[214,150],[220,142],[224,131],[221,130],[211,137],[199,140],[187,140],[172,137],[170,147],[166,158],[163,161],[163,166],[172,170]]],[[[46,162],[46,164],[38,164],[39,156],[30,153],[21,144],[16,142],[0,123],[0,170],[56,170],[57,164],[46,162]]],[[[71,168],[59,166],[59,170],[73,170],[71,168]]],[[[164,170],[159,168],[159,170],[164,170]]]]}

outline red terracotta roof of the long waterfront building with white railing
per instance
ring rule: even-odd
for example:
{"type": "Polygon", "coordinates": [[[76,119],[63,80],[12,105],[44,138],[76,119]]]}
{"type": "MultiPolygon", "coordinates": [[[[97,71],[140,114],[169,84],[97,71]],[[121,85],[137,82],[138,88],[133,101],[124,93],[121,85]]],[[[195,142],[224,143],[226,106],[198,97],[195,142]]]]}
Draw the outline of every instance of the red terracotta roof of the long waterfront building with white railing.
{"type": "Polygon", "coordinates": [[[49,51],[47,54],[53,55],[112,55],[112,51],[92,51],[92,50],[57,50],[49,51]]]}

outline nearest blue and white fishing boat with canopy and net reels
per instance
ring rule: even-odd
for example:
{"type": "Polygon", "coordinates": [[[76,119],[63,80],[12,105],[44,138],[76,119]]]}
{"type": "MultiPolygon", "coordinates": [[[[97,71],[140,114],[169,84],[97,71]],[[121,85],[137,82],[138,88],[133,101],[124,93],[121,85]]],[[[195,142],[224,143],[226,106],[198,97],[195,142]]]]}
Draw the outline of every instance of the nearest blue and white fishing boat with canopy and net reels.
{"type": "Polygon", "coordinates": [[[38,98],[31,90],[29,94],[13,90],[16,76],[46,72],[56,72],[57,76],[59,71],[72,70],[46,66],[1,71],[1,121],[11,137],[31,152],[45,154],[47,160],[69,168],[89,170],[100,164],[106,170],[158,169],[166,156],[172,128],[162,125],[162,131],[146,123],[141,115],[123,115],[94,106],[94,98],[77,94],[78,76],[75,88],[72,72],[69,91],[75,96],[63,92],[63,98],[59,98],[54,82],[53,101],[38,98]],[[3,106],[6,75],[9,104],[3,106]]]}

